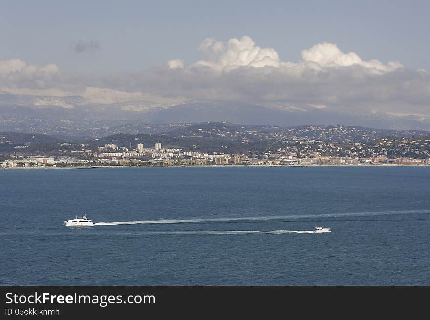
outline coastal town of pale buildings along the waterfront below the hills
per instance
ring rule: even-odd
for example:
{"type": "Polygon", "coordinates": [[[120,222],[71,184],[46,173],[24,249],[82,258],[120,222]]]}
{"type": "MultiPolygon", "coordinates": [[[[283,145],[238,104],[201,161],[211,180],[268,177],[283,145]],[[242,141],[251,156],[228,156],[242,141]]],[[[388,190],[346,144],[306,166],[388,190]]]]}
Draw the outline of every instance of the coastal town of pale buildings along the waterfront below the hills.
{"type": "Polygon", "coordinates": [[[0,168],[117,167],[117,166],[321,166],[321,165],[430,165],[430,140],[382,139],[375,144],[356,142],[348,147],[338,143],[296,138],[282,141],[276,150],[262,153],[205,153],[180,148],[164,148],[161,142],[136,148],[105,144],[91,150],[90,144],[60,143],[71,147],[69,155],[24,155],[18,146],[0,168]],[[415,155],[412,156],[412,155],[415,155]]]}

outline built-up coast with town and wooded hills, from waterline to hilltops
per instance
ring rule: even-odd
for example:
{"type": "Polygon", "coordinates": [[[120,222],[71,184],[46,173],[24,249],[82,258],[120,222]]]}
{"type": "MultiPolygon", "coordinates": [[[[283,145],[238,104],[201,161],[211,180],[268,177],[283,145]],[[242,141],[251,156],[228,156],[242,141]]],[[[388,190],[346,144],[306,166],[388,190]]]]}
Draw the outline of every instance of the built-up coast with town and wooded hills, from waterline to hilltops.
{"type": "Polygon", "coordinates": [[[427,165],[429,161],[429,132],[340,125],[279,128],[201,123],[154,135],[119,133],[86,142],[0,134],[0,168],[427,165]]]}

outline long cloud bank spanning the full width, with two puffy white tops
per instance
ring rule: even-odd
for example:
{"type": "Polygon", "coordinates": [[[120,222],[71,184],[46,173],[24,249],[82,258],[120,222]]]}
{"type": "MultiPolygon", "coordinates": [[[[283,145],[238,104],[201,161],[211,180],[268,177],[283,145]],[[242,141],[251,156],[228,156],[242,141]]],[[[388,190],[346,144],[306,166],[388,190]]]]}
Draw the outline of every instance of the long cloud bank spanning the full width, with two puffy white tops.
{"type": "MultiPolygon", "coordinates": [[[[309,115],[377,112],[430,117],[429,74],[397,61],[363,60],[358,53],[345,53],[326,42],[302,50],[299,61],[282,61],[274,48],[262,48],[247,36],[226,42],[206,38],[198,50],[202,59],[189,65],[172,59],[164,66],[99,78],[62,74],[55,65],[5,60],[0,61],[0,88],[10,88],[11,93],[24,92],[16,88],[27,88],[25,92],[55,89],[58,94],[80,95],[92,103],[137,101],[143,99],[137,93],[142,93],[160,101],[213,103],[214,108],[259,105],[309,115]],[[106,91],[113,92],[113,98],[99,99],[94,88],[114,90],[106,91]],[[88,98],[91,95],[95,98],[88,98]]],[[[100,95],[104,97],[103,90],[100,95]]]]}

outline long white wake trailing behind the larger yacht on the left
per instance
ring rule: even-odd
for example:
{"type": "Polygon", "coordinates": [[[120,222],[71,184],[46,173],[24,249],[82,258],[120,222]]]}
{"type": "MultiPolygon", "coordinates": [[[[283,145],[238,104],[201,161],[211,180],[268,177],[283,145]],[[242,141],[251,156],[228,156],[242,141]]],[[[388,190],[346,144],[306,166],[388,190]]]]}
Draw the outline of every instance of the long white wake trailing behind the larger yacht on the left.
{"type": "MultiPolygon", "coordinates": [[[[335,218],[352,216],[377,216],[377,215],[399,215],[430,213],[430,210],[401,210],[401,211],[374,211],[374,212],[347,212],[327,214],[299,214],[284,216],[259,216],[259,217],[234,217],[234,218],[196,218],[196,219],[174,219],[174,220],[143,220],[143,221],[119,221],[119,222],[97,222],[94,225],[128,225],[128,224],[172,224],[172,223],[208,223],[229,221],[253,221],[253,220],[281,220],[281,219],[306,219],[306,218],[335,218]]],[[[274,230],[276,231],[276,230],[274,230]]],[[[287,231],[287,230],[285,230],[287,231]]]]}

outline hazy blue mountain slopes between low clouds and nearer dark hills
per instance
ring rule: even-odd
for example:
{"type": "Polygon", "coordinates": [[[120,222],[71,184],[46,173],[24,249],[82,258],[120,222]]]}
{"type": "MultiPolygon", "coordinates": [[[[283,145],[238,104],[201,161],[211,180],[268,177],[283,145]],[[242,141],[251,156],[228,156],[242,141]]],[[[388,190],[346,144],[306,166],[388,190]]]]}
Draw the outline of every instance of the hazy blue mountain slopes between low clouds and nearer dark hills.
{"type": "MultiPolygon", "coordinates": [[[[154,108],[155,109],[155,108],[154,108]]],[[[193,123],[229,122],[247,126],[295,127],[301,123],[319,123],[331,125],[338,119],[341,124],[368,127],[385,132],[419,132],[428,128],[410,119],[405,125],[396,118],[384,118],[373,114],[351,117],[331,114],[324,110],[313,111],[307,115],[304,111],[281,110],[258,105],[216,108],[209,104],[184,103],[169,108],[158,108],[147,112],[125,111],[114,106],[76,106],[74,108],[0,106],[0,132],[24,132],[47,134],[57,137],[105,137],[117,133],[157,134],[184,128],[193,123]],[[337,116],[337,117],[336,117],[337,116]],[[215,121],[208,121],[215,119],[215,121]],[[227,119],[227,121],[225,121],[227,119]],[[230,121],[229,121],[230,120],[230,121]],[[394,128],[394,129],[393,129],[394,128]],[[416,128],[416,129],[409,129],[416,128]]],[[[381,134],[382,136],[383,134],[381,134]]]]}

